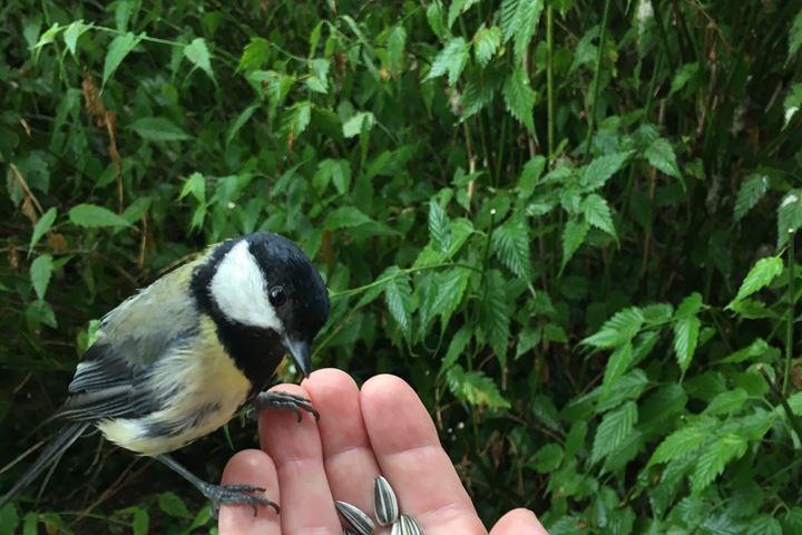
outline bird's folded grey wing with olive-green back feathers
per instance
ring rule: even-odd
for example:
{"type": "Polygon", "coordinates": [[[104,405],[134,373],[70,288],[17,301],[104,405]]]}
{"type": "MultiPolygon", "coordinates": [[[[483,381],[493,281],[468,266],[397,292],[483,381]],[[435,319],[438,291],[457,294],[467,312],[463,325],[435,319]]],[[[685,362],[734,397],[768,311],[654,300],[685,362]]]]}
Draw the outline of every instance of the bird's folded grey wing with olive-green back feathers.
{"type": "Polygon", "coordinates": [[[188,291],[195,263],[163,276],[106,314],[57,416],[96,420],[141,416],[154,409],[146,379],[153,362],[186,344],[198,329],[188,291]]]}

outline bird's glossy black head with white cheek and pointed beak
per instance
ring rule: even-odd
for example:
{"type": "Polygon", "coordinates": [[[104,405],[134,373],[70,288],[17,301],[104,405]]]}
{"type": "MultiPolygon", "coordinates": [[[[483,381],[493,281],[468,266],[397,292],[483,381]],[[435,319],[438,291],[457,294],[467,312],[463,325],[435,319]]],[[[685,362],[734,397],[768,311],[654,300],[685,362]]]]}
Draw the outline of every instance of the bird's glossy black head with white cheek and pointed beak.
{"type": "Polygon", "coordinates": [[[207,291],[219,313],[239,327],[273,331],[307,377],[312,341],[329,318],[329,294],[309,257],[266,232],[221,244],[213,256],[207,291]]]}

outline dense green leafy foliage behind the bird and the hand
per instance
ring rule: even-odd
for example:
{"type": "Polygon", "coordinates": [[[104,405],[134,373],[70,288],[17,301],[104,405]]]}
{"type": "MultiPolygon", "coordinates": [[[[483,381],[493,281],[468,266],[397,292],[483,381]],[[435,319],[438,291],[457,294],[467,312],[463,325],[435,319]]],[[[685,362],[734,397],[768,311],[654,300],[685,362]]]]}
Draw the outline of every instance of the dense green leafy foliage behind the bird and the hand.
{"type": "MultiPolygon", "coordinates": [[[[332,291],[315,367],[409,380],[488,525],[527,506],[554,535],[802,533],[799,2],[4,0],[0,20],[0,464],[53,432],[91,320],[270,230],[332,291]]],[[[235,420],[178,458],[215,479],[255,444],[235,420]]],[[[216,529],[98,435],[37,492],[0,534],[216,529]]]]}

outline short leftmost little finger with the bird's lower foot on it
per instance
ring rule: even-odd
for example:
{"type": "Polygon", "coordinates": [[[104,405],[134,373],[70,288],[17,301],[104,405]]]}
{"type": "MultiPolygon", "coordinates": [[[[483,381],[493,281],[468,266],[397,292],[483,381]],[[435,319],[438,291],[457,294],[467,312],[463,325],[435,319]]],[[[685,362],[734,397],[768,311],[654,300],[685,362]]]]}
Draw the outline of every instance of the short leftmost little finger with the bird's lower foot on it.
{"type": "MultiPolygon", "coordinates": [[[[223,485],[256,485],[265,489],[264,496],[278,503],[278,477],[275,465],[264,451],[246,449],[228,460],[223,470],[223,485]]],[[[281,504],[280,504],[281,505],[281,504]]],[[[280,535],[278,515],[272,507],[257,507],[256,516],[247,505],[223,505],[219,512],[221,535],[266,534],[280,535]]]]}

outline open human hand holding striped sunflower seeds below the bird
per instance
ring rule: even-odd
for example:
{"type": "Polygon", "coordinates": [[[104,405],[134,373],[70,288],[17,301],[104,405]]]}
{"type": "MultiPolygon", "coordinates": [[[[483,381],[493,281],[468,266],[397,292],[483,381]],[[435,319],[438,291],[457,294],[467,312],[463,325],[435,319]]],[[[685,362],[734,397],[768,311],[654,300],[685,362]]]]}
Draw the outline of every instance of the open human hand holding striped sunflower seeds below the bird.
{"type": "MultiPolygon", "coordinates": [[[[362,390],[346,373],[324,369],[297,385],[274,390],[305,396],[321,418],[292,411],[260,415],[262,450],[237,453],[223,484],[264,487],[281,515],[261,507],[223,506],[221,535],[341,534],[334,500],[373,516],[373,480],[392,485],[401,513],[414,517],[427,535],[487,534],[418,395],[394,376],[376,376],[362,390]]],[[[385,529],[389,533],[389,529],[385,529]]],[[[507,513],[490,535],[548,535],[527,509],[507,513]]]]}

